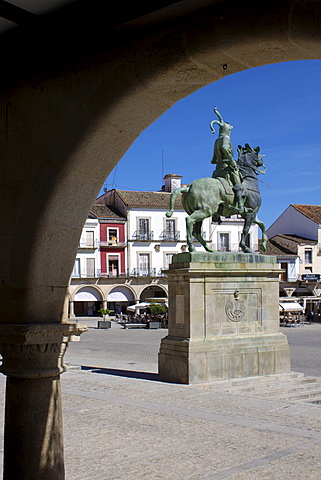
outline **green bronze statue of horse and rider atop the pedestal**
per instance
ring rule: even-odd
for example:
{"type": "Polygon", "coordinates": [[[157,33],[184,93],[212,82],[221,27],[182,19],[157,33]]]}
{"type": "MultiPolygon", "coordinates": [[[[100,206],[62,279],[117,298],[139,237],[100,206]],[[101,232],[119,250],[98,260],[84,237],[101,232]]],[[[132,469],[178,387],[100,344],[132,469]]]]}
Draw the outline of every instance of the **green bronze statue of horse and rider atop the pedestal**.
{"type": "Polygon", "coordinates": [[[194,180],[190,185],[176,188],[171,193],[169,218],[174,213],[175,200],[182,195],[181,201],[186,217],[186,238],[188,250],[195,251],[193,237],[198,240],[207,252],[214,252],[201,235],[202,222],[212,217],[214,222],[221,223],[221,217],[239,214],[244,219],[244,226],[239,243],[245,253],[253,253],[246,245],[246,237],[253,223],[262,231],[260,249],[266,251],[266,228],[259,220],[257,213],[261,206],[261,195],[257,176],[266,173],[266,167],[259,154],[260,147],[251,148],[248,143],[238,146],[238,160],[234,160],[231,143],[232,125],[223,121],[222,115],[214,108],[218,120],[210,123],[212,133],[214,125],[219,125],[219,136],[215,140],[214,154],[211,163],[216,164],[212,178],[205,177],[194,180]]]}

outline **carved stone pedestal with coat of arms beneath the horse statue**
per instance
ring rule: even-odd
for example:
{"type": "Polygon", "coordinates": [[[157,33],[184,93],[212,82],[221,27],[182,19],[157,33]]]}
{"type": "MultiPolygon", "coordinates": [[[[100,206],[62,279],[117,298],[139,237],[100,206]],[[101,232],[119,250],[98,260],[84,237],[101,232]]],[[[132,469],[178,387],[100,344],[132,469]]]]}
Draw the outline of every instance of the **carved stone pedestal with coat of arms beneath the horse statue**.
{"type": "Polygon", "coordinates": [[[160,346],[164,381],[202,383],[290,371],[279,332],[275,257],[180,253],[167,272],[169,331],[160,346]]]}

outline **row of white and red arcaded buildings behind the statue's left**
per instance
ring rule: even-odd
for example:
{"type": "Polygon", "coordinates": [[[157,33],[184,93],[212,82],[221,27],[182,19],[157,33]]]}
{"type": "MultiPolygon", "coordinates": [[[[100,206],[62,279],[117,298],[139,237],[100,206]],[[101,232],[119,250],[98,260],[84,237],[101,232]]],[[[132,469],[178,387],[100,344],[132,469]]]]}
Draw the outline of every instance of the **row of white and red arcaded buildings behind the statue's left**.
{"type": "MultiPolygon", "coordinates": [[[[187,251],[186,212],[178,198],[171,218],[170,194],[181,176],[169,174],[158,192],[110,190],[99,197],[82,232],[69,287],[70,316],[96,315],[99,308],[125,313],[147,298],[167,297],[166,270],[174,254],[187,251]],[[118,233],[117,233],[118,232],[118,233]],[[90,247],[90,248],[89,248],[90,247]]],[[[207,218],[202,235],[211,249],[238,252],[243,219],[207,218]]],[[[194,242],[196,251],[204,251],[194,242]]],[[[258,250],[258,227],[248,246],[258,250]]]]}

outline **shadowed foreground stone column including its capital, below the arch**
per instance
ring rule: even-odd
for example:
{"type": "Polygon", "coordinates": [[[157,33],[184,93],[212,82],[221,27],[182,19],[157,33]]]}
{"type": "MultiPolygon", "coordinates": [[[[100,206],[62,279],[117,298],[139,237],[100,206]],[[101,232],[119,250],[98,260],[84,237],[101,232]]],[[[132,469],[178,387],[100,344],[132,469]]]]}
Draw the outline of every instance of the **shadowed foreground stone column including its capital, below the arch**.
{"type": "Polygon", "coordinates": [[[60,374],[82,324],[0,325],[7,375],[4,480],[64,480],[60,374]]]}

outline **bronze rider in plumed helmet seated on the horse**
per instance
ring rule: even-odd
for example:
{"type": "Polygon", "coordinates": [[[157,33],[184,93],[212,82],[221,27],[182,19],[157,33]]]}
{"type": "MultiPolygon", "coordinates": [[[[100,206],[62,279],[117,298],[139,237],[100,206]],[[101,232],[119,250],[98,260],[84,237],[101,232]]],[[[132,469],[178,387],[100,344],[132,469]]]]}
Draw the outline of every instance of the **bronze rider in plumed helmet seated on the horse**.
{"type": "Polygon", "coordinates": [[[211,163],[217,165],[216,169],[213,172],[212,177],[223,177],[225,179],[230,179],[233,184],[233,191],[235,195],[235,200],[237,203],[237,212],[242,213],[244,211],[244,205],[242,201],[242,180],[239,174],[237,163],[234,160],[233,146],[230,140],[232,125],[227,122],[224,122],[222,115],[219,113],[216,107],[214,107],[214,113],[217,115],[219,120],[213,120],[210,123],[210,128],[212,133],[215,133],[214,124],[219,125],[219,136],[215,140],[214,144],[214,154],[211,160],[211,163]]]}

